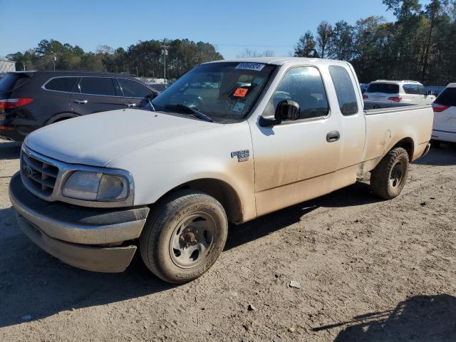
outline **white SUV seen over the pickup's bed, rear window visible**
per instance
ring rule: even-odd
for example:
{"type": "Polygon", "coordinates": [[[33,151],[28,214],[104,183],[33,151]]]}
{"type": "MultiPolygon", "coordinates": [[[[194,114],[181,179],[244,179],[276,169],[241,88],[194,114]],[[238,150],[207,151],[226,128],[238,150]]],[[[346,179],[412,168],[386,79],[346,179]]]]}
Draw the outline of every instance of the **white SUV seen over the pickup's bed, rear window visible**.
{"type": "Polygon", "coordinates": [[[416,81],[375,81],[363,95],[365,100],[375,102],[408,103],[411,105],[430,105],[434,95],[427,95],[423,84],[416,81]]]}

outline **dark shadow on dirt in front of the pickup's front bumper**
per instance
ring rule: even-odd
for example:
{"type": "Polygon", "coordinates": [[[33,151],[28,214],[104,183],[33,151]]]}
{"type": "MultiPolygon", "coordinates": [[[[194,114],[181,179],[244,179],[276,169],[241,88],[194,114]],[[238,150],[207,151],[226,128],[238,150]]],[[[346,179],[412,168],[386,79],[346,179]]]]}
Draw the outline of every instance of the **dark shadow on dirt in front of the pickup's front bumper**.
{"type": "Polygon", "coordinates": [[[151,274],[139,254],[124,273],[102,274],[63,264],[20,233],[1,239],[0,249],[0,328],[173,287],[151,274]]]}

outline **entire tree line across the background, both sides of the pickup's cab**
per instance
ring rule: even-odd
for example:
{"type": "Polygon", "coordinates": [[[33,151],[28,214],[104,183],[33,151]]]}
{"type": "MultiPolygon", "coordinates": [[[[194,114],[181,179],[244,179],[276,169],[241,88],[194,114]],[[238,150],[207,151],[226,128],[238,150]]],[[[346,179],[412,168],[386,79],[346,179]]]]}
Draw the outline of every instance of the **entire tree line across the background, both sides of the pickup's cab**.
{"type": "MultiPolygon", "coordinates": [[[[456,0],[383,0],[396,20],[369,16],[351,25],[321,22],[316,32],[299,38],[294,56],[349,61],[363,83],[376,79],[408,79],[426,85],[456,81],[456,0]]],[[[162,78],[167,46],[167,78],[179,78],[199,63],[223,59],[210,43],[188,39],[140,41],[124,48],[98,46],[83,51],[56,40],[43,39],[25,53],[11,53],[17,70],[90,70],[126,72],[162,78]]],[[[273,56],[245,48],[239,57],[273,56]]]]}

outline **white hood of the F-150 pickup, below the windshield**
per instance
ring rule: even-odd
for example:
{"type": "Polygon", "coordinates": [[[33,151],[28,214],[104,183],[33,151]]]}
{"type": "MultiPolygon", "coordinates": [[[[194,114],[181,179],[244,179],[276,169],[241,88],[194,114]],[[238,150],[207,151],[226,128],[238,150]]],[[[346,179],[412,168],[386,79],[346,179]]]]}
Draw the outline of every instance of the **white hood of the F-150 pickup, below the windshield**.
{"type": "Polygon", "coordinates": [[[43,127],[24,143],[62,162],[103,167],[140,147],[219,125],[147,110],[112,110],[43,127]]]}

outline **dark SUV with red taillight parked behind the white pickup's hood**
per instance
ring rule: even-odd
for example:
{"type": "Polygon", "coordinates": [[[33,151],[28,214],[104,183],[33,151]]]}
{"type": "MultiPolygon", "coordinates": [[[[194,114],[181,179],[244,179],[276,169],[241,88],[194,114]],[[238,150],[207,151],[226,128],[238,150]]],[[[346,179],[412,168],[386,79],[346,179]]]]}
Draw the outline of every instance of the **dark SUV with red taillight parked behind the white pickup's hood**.
{"type": "Polygon", "coordinates": [[[0,80],[0,138],[23,141],[28,133],[79,115],[140,107],[154,90],[122,73],[24,71],[0,80]]]}

